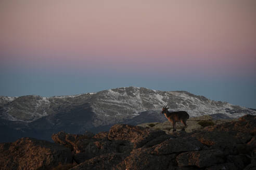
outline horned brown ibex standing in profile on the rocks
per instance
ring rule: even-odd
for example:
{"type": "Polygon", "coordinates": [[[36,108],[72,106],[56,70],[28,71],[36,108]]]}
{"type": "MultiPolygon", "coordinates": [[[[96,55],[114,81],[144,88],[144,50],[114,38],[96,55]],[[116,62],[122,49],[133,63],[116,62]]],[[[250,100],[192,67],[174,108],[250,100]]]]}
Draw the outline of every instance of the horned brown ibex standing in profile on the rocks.
{"type": "Polygon", "coordinates": [[[169,107],[163,106],[162,109],[162,114],[172,123],[173,126],[173,132],[176,131],[176,122],[182,122],[185,127],[183,127],[183,131],[185,131],[185,128],[187,127],[187,119],[189,118],[189,115],[187,114],[186,111],[174,111],[174,112],[169,112],[168,111],[169,107]]]}

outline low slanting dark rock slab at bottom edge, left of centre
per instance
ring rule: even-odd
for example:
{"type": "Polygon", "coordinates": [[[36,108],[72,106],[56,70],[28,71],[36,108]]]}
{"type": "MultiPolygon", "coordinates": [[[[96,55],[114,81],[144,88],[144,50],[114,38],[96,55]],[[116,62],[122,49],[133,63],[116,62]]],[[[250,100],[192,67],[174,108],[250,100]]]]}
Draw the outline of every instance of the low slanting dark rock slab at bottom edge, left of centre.
{"type": "Polygon", "coordinates": [[[86,160],[85,162],[69,169],[69,170],[91,170],[105,169],[110,170],[126,158],[127,154],[123,153],[108,153],[99,155],[95,158],[86,160]]]}

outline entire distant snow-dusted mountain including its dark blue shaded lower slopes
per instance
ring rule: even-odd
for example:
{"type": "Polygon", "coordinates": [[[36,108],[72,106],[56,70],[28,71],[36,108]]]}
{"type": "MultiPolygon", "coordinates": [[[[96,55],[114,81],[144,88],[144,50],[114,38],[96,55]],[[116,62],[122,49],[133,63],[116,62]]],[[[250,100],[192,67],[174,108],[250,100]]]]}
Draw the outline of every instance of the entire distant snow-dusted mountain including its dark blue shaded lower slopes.
{"type": "Polygon", "coordinates": [[[137,87],[70,96],[0,96],[0,142],[20,137],[51,140],[50,135],[59,131],[108,131],[116,123],[162,122],[166,120],[160,114],[163,105],[173,111],[185,110],[190,117],[211,115],[217,119],[256,115],[255,109],[212,101],[186,91],[137,87]]]}

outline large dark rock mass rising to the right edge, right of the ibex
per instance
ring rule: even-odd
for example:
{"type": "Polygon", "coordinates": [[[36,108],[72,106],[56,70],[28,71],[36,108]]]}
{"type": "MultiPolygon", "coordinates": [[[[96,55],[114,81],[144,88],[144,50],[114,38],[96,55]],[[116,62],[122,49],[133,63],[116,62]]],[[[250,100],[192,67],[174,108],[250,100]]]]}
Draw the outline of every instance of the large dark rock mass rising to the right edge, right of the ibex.
{"type": "Polygon", "coordinates": [[[208,126],[192,133],[202,144],[223,150],[226,154],[249,154],[255,147],[255,116],[244,116],[239,121],[208,126]]]}

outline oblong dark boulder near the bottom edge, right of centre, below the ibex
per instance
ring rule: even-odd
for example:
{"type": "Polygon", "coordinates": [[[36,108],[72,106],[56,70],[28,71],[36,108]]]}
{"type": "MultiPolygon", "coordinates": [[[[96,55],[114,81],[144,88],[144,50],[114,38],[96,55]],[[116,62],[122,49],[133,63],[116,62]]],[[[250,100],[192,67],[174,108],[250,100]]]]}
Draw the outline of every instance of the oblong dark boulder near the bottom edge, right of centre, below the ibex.
{"type": "Polygon", "coordinates": [[[214,164],[223,163],[224,155],[221,150],[209,149],[200,151],[184,152],[177,155],[178,166],[207,167],[214,164]]]}

